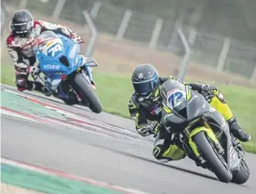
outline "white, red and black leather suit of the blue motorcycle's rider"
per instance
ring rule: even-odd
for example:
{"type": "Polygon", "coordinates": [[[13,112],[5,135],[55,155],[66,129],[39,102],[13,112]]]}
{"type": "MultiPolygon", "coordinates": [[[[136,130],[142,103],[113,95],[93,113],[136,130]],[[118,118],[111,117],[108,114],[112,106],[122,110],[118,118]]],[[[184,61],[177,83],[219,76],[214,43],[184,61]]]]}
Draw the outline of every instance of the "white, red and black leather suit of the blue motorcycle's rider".
{"type": "Polygon", "coordinates": [[[36,38],[45,30],[52,30],[54,33],[66,35],[73,41],[81,41],[80,36],[75,34],[70,28],[41,20],[34,21],[34,26],[29,38],[21,38],[10,32],[10,35],[6,40],[7,49],[14,62],[16,70],[16,86],[19,91],[42,91],[42,84],[29,81],[28,77],[29,73],[36,74],[39,72],[38,62],[36,61],[32,47],[35,45],[36,38]]]}

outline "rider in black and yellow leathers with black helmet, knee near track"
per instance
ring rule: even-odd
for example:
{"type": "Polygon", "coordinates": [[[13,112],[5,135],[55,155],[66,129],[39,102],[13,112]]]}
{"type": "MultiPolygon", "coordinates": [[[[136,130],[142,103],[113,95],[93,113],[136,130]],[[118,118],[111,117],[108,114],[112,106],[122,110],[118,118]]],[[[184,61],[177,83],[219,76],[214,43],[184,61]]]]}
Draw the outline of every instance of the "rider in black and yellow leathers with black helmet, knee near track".
{"type": "Polygon", "coordinates": [[[155,135],[153,155],[161,162],[170,160],[182,160],[185,153],[182,149],[176,147],[171,142],[170,134],[160,125],[162,118],[162,108],[160,106],[161,98],[159,96],[159,86],[164,82],[176,80],[182,84],[189,85],[193,91],[197,91],[206,98],[208,103],[215,110],[221,113],[226,119],[230,133],[240,141],[249,141],[251,135],[248,135],[240,128],[232,111],[229,109],[221,91],[214,85],[202,83],[185,83],[173,76],[159,77],[157,69],[150,64],[142,64],[135,68],[131,76],[131,82],[134,93],[128,102],[130,116],[135,118],[136,129],[142,136],[155,135]]]}

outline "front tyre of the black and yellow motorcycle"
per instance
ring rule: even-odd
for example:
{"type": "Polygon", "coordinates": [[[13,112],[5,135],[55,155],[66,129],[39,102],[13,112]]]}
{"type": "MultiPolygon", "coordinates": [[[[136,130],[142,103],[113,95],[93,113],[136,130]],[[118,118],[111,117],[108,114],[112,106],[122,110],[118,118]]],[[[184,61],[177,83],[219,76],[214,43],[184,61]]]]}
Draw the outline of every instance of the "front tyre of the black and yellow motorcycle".
{"type": "Polygon", "coordinates": [[[228,183],[232,180],[233,175],[226,166],[224,166],[220,157],[214,151],[214,147],[208,141],[204,132],[199,132],[193,137],[199,152],[202,154],[202,158],[207,161],[208,167],[214,172],[214,174],[221,180],[221,182],[228,183]]]}

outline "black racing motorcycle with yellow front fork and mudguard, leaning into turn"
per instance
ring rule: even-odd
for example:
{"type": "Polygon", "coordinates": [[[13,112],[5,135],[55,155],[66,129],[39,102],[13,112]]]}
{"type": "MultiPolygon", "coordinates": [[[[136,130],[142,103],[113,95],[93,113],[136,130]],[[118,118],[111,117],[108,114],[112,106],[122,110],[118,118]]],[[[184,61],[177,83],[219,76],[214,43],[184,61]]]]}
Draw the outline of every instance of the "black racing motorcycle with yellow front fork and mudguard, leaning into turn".
{"type": "Polygon", "coordinates": [[[176,80],[164,83],[159,92],[161,124],[171,141],[221,182],[245,183],[250,176],[245,153],[223,116],[201,94],[176,80]]]}

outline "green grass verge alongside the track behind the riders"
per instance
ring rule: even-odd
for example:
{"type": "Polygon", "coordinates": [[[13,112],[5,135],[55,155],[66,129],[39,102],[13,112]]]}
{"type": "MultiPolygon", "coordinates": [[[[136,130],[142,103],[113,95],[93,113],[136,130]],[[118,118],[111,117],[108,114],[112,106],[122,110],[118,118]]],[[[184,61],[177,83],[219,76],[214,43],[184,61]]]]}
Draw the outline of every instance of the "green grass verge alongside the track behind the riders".
{"type": "MultiPolygon", "coordinates": [[[[1,74],[2,83],[14,85],[12,66],[2,66],[1,74]]],[[[131,78],[126,75],[97,72],[97,70],[93,75],[104,110],[115,115],[129,117],[127,103],[132,93],[131,78]]],[[[240,125],[253,135],[252,141],[243,144],[246,151],[256,153],[256,128],[253,127],[256,119],[256,89],[221,84],[217,84],[217,86],[240,125]]]]}

